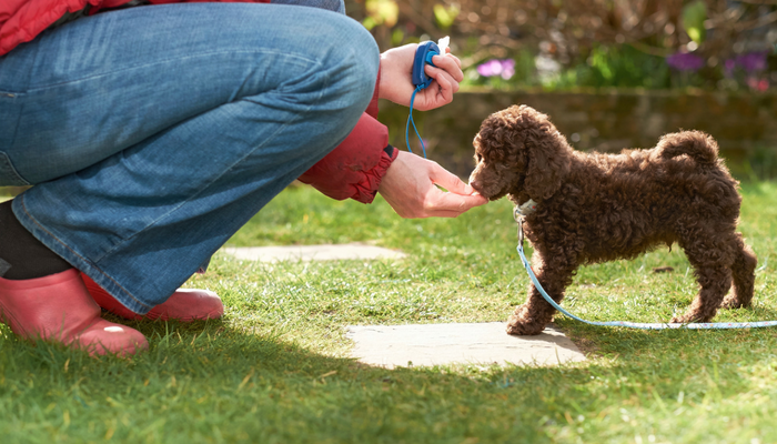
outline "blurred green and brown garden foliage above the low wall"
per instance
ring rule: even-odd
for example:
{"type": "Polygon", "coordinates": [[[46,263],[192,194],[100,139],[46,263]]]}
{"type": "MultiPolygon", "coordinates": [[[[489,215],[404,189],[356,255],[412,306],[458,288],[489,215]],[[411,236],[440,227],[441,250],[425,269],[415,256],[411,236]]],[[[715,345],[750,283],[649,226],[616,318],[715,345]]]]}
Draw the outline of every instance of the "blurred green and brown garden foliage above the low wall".
{"type": "Polygon", "coordinates": [[[687,0],[662,3],[656,12],[655,4],[612,1],[483,4],[365,0],[355,3],[363,7],[354,17],[363,20],[383,50],[450,34],[454,54],[467,68],[464,85],[498,90],[702,88],[763,93],[777,84],[777,42],[766,32],[775,11],[766,3],[756,3],[687,0]],[[743,67],[735,72],[726,68],[748,53],[767,52],[770,67],[745,68],[745,72],[736,72],[743,67]],[[667,59],[678,54],[696,58],[698,63],[670,69],[667,59]],[[537,56],[559,64],[559,69],[536,67],[542,64],[534,62],[537,56]],[[515,60],[516,71],[531,69],[512,78],[478,75],[482,63],[505,59],[515,60]]]}

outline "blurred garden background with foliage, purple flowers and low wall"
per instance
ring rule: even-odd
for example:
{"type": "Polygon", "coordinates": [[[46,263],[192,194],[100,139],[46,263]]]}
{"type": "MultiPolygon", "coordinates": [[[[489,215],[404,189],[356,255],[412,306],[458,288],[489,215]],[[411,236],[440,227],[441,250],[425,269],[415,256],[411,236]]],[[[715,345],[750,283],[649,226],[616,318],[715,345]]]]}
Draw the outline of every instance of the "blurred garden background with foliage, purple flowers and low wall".
{"type": "MultiPolygon", "coordinates": [[[[710,133],[740,180],[777,176],[777,0],[346,0],[381,50],[451,37],[463,90],[414,112],[428,152],[462,176],[490,113],[528,104],[579,150],[710,133]]],[[[407,109],[380,120],[406,149],[407,109]]],[[[412,130],[411,130],[412,132],[412,130]]],[[[421,145],[411,137],[414,152],[421,145]]]]}

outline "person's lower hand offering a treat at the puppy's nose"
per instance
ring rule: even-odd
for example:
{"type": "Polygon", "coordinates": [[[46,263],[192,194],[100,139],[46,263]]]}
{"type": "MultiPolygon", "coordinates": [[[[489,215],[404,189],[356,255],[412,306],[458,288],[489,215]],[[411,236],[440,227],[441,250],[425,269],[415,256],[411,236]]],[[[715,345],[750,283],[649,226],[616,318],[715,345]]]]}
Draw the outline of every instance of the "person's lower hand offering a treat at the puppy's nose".
{"type": "Polygon", "coordinates": [[[488,202],[436,162],[405,151],[389,167],[377,192],[406,219],[455,218],[488,202]]]}

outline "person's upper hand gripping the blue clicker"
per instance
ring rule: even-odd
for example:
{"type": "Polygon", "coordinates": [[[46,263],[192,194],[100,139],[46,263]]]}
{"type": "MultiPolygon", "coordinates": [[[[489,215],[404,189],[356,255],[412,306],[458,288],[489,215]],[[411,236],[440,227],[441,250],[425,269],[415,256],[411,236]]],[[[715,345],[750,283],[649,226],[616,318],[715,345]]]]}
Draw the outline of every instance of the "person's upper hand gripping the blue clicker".
{"type": "MultiPolygon", "coordinates": [[[[412,81],[413,60],[417,44],[390,49],[381,54],[381,84],[377,95],[394,103],[410,107],[415,85],[412,81]]],[[[424,72],[434,79],[432,84],[415,94],[413,109],[427,111],[453,101],[453,94],[458,91],[458,82],[464,80],[462,62],[452,56],[447,48],[445,56],[434,56],[431,64],[425,64],[424,72]]]]}

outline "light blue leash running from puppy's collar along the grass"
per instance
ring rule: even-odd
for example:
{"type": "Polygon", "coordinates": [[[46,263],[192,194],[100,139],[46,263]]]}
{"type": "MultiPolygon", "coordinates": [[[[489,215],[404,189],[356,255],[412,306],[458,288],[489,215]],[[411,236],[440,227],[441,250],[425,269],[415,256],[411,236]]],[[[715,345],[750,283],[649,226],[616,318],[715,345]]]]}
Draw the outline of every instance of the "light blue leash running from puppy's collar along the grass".
{"type": "Polygon", "coordinates": [[[537,289],[539,294],[547,301],[548,304],[553,305],[554,309],[558,310],[561,313],[576,321],[584,322],[589,325],[599,326],[625,326],[628,329],[639,329],[639,330],[675,330],[675,329],[688,329],[688,330],[712,330],[712,329],[758,329],[765,326],[776,326],[777,321],[757,321],[757,322],[704,322],[704,323],[693,323],[693,324],[667,324],[667,323],[644,323],[644,322],[625,322],[625,321],[610,321],[610,322],[595,322],[586,321],[582,317],[575,316],[574,314],[562,309],[561,305],[556,303],[548,294],[545,289],[537,281],[537,276],[532,270],[532,265],[528,264],[526,255],[524,254],[524,226],[523,226],[523,214],[521,209],[517,206],[513,212],[515,221],[518,223],[518,254],[524,263],[524,268],[528,273],[528,278],[534,283],[534,287],[537,289]]]}

